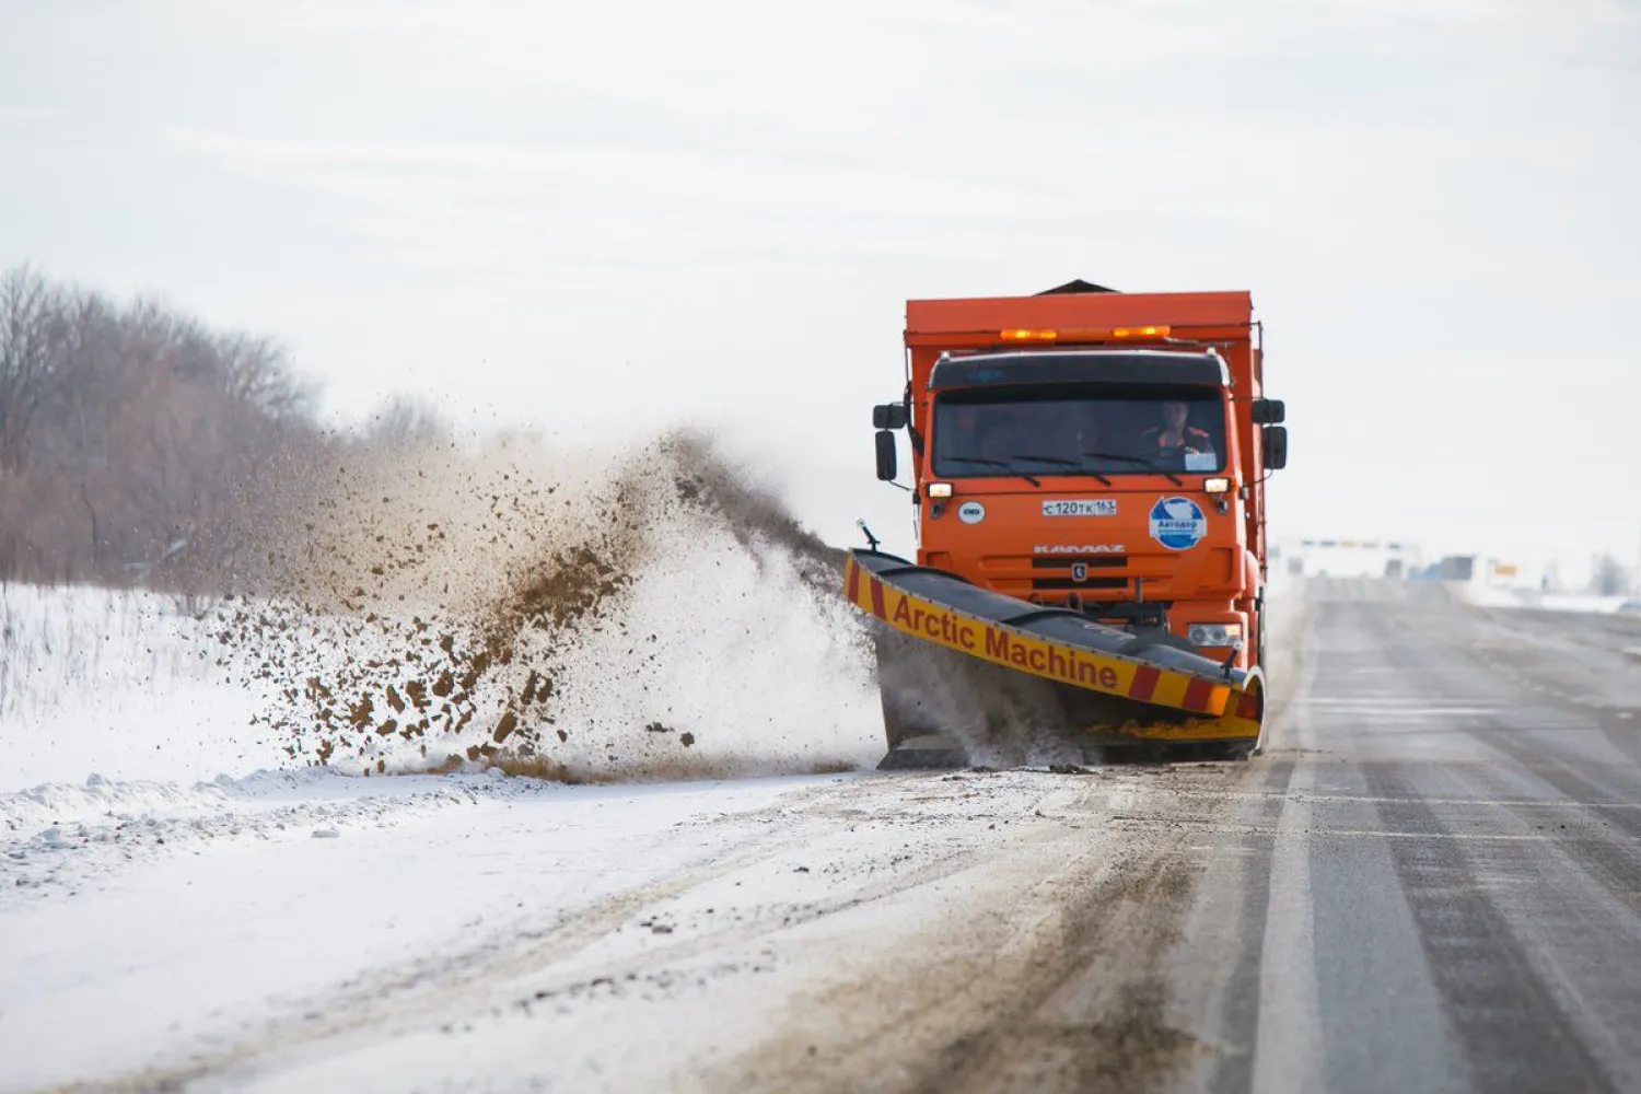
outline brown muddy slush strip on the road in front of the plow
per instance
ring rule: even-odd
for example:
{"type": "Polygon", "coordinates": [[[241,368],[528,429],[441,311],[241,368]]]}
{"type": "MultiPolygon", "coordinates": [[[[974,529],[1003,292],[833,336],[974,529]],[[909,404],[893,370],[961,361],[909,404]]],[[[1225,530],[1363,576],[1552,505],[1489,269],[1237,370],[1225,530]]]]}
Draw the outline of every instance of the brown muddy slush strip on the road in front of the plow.
{"type": "MultiPolygon", "coordinates": [[[[1136,795],[1162,802],[1150,812],[1165,815],[1170,784],[1204,794],[1203,781],[1226,786],[1247,773],[1170,771],[1116,792],[1106,779],[1075,779],[1076,795],[1045,804],[1029,843],[999,845],[973,864],[973,881],[957,879],[965,897],[947,912],[955,919],[922,923],[911,948],[896,945],[806,994],[791,1028],[714,1071],[704,1089],[1165,1087],[1206,1051],[1177,1020],[1163,964],[1204,866],[1200,830],[1104,833],[1136,795]],[[852,1015],[842,1035],[829,1032],[837,1015],[852,1015]]],[[[1200,797],[1193,807],[1201,812],[1200,797]]]]}

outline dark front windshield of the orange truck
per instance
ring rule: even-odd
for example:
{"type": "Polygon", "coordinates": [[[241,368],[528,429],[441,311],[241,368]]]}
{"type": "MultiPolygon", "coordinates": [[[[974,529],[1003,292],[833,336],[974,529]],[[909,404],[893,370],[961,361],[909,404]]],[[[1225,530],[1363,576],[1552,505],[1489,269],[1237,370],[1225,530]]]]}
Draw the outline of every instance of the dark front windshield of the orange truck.
{"type": "Polygon", "coordinates": [[[1214,472],[1226,466],[1224,430],[1224,402],[1203,389],[953,390],[934,408],[934,472],[1214,472]]]}

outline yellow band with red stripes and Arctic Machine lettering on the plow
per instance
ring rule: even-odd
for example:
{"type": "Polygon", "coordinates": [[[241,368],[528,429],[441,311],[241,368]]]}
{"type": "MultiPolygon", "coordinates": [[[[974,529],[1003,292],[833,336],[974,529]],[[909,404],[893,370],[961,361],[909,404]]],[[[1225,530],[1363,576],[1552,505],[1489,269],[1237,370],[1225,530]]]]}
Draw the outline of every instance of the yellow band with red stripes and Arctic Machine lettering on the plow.
{"type": "Polygon", "coordinates": [[[1203,715],[1188,718],[1182,725],[1122,727],[1122,732],[1132,736],[1178,740],[1259,736],[1262,704],[1257,676],[1250,676],[1246,687],[1237,687],[1129,658],[1047,641],[904,592],[881,581],[853,558],[848,559],[843,582],[850,604],[914,638],[1058,684],[1203,715]]]}

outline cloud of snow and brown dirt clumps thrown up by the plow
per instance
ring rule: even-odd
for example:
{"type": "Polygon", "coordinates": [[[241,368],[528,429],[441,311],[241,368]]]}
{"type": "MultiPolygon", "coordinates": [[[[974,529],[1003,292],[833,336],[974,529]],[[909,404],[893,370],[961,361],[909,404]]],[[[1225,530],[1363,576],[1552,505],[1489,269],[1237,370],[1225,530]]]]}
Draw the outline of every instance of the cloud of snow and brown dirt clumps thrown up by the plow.
{"type": "Polygon", "coordinates": [[[269,551],[284,595],[230,602],[217,628],[297,761],[594,781],[873,751],[840,553],[706,438],[617,459],[402,453],[310,505],[269,551]],[[793,672],[809,679],[779,687],[793,672]]]}

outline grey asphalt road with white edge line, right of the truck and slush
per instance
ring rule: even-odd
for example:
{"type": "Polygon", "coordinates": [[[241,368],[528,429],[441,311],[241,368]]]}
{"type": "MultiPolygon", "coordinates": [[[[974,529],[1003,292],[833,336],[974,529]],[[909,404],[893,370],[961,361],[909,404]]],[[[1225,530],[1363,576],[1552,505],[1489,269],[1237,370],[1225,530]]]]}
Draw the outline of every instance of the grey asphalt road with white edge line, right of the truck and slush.
{"type": "Polygon", "coordinates": [[[1275,748],[1193,845],[1167,1019],[1201,1051],[1159,1086],[1641,1089],[1641,630],[1311,595],[1275,748]]]}

